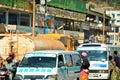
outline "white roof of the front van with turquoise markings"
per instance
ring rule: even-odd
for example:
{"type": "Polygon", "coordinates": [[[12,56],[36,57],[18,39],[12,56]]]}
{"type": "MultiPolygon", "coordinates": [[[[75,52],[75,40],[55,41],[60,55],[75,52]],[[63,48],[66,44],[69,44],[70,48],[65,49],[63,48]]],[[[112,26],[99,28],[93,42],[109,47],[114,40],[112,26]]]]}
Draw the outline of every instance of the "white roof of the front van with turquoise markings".
{"type": "Polygon", "coordinates": [[[33,52],[27,52],[26,54],[31,54],[31,53],[35,53],[35,54],[39,54],[39,53],[52,53],[52,54],[60,54],[60,53],[65,53],[65,54],[79,54],[78,52],[76,51],[64,51],[64,50],[40,50],[40,51],[33,51],[33,52]]]}

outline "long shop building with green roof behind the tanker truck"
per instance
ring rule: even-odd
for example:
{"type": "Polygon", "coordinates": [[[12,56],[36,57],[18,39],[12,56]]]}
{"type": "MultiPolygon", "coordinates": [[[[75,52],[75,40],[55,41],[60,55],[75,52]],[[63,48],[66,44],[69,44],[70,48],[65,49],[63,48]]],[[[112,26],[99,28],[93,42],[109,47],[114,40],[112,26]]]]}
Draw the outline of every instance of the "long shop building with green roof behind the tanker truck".
{"type": "MultiPolygon", "coordinates": [[[[96,11],[87,11],[86,3],[79,0],[51,0],[46,5],[36,0],[35,32],[38,33],[65,33],[77,36],[79,39],[89,40],[89,36],[97,33],[102,34],[103,29],[98,28],[98,22],[103,23],[103,14],[96,11]],[[89,21],[87,18],[89,17],[89,21]],[[96,20],[98,20],[96,22],[96,20]],[[46,32],[45,29],[49,32],[46,32]],[[81,37],[82,33],[82,37],[81,37]],[[84,34],[83,34],[84,33],[84,34]],[[84,35],[84,38],[83,38],[84,35]]],[[[0,23],[5,28],[16,25],[13,32],[32,32],[32,3],[21,0],[0,0],[0,23]]],[[[105,17],[105,23],[109,18],[105,17]]],[[[108,26],[108,24],[105,24],[108,26]]],[[[9,28],[8,28],[9,29],[9,28]]],[[[108,30],[105,29],[105,32],[108,30]]],[[[77,39],[78,39],[77,38],[77,39]]]]}

